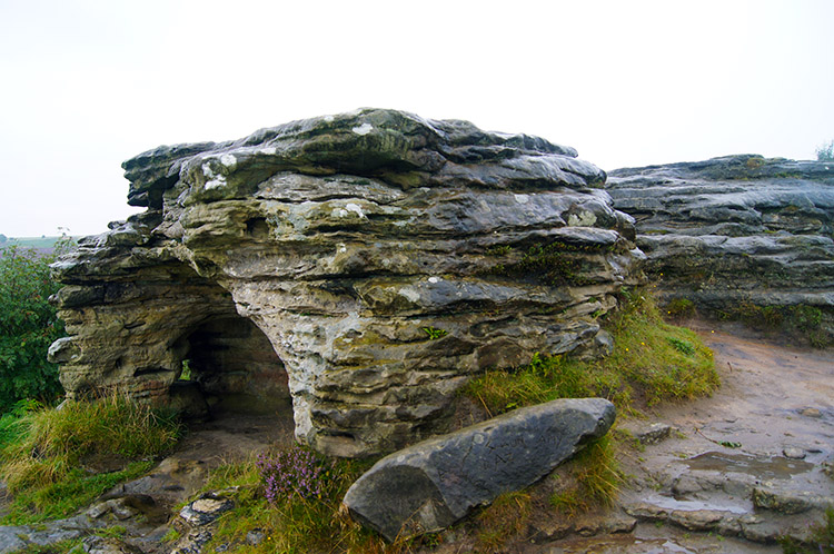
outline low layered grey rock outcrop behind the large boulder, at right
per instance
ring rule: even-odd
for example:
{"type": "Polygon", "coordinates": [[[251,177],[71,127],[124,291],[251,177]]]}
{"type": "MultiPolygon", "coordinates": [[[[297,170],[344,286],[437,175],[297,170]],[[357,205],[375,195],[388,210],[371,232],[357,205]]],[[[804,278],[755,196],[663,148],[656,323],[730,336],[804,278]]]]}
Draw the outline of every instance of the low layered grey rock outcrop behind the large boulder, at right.
{"type": "Polygon", "coordinates": [[[667,300],[751,318],[802,306],[788,315],[834,337],[834,164],[729,156],[617,169],[606,189],[667,300]]]}

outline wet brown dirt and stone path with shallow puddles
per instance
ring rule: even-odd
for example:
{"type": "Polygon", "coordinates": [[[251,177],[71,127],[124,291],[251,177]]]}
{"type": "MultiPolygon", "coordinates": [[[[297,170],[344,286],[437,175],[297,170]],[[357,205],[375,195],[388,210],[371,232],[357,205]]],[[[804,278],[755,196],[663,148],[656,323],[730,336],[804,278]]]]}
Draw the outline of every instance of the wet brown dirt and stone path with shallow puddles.
{"type": "Polygon", "coordinates": [[[552,543],[548,553],[777,553],[780,535],[807,536],[834,502],[834,352],[780,345],[734,325],[693,321],[715,352],[713,397],[667,405],[639,434],[668,438],[624,461],[620,507],[634,532],[552,543]],[[719,444],[719,443],[723,443],[719,444]]]}

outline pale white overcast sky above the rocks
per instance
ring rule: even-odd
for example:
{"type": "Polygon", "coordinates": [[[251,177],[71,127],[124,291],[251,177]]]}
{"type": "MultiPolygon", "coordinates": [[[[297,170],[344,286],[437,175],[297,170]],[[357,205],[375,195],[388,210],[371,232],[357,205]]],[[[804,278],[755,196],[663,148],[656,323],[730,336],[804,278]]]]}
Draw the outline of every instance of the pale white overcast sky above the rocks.
{"type": "Polygon", "coordinates": [[[834,1],[0,0],[0,233],[137,211],[120,164],[358,107],[603,169],[834,139],[834,1]]]}

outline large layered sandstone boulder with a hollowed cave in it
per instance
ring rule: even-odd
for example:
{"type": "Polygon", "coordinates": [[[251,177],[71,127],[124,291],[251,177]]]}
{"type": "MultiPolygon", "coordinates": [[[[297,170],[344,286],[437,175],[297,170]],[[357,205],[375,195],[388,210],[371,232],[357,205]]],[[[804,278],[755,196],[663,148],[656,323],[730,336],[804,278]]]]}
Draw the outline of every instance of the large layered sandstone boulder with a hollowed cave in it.
{"type": "Polygon", "coordinates": [[[365,109],[123,168],[147,211],[54,266],[64,388],[182,404],[187,359],[215,407],[291,396],[330,454],[444,431],[487,367],[594,352],[592,315],[639,274],[604,171],[465,121],[365,109]]]}

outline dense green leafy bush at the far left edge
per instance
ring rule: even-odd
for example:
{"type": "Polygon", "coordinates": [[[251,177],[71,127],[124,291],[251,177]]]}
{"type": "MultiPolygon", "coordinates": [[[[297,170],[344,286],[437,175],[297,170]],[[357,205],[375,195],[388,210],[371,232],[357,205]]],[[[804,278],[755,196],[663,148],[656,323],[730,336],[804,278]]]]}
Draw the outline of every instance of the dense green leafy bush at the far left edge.
{"type": "Polygon", "coordinates": [[[23,398],[51,402],[62,393],[58,366],[47,362],[49,345],[64,335],[49,304],[60,288],[49,264],[67,248],[47,256],[17,246],[0,249],[0,413],[23,398]]]}

